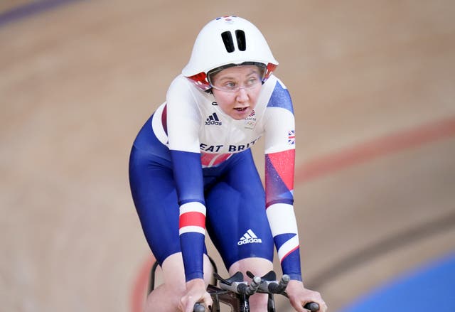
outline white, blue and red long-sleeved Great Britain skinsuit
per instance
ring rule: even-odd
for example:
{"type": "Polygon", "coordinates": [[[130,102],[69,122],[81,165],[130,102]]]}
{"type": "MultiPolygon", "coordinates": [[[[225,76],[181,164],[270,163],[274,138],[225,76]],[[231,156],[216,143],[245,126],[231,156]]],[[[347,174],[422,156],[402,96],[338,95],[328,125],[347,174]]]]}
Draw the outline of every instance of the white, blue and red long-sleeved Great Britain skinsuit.
{"type": "Polygon", "coordinates": [[[272,261],[275,244],[283,273],[301,280],[294,152],[291,98],[274,75],[242,120],[176,77],[139,131],[129,161],[134,204],[158,262],[183,252],[186,280],[202,278],[207,230],[226,267],[247,257],[272,261]],[[265,191],[250,150],[261,136],[265,191]]]}

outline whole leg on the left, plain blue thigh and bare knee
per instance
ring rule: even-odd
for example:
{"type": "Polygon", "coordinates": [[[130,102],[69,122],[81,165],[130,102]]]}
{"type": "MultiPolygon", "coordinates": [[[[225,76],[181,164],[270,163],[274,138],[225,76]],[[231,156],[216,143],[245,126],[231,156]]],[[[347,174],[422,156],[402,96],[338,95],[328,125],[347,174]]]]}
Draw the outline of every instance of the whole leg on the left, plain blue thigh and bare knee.
{"type": "MultiPolygon", "coordinates": [[[[160,159],[133,148],[129,178],[142,230],[156,261],[161,265],[164,280],[164,284],[149,294],[146,311],[177,311],[186,285],[173,173],[160,159]]],[[[209,263],[205,258],[204,262],[209,263]]]]}

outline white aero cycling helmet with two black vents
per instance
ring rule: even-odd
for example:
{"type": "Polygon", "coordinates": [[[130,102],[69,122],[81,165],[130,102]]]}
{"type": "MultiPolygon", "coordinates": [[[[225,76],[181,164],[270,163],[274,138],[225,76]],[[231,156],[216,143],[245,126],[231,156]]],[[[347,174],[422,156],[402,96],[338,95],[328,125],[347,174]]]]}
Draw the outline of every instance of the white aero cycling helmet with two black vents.
{"type": "Polygon", "coordinates": [[[207,91],[211,88],[210,72],[235,65],[264,68],[262,82],[265,82],[278,62],[255,25],[238,16],[223,16],[202,28],[182,74],[201,90],[207,91]]]}

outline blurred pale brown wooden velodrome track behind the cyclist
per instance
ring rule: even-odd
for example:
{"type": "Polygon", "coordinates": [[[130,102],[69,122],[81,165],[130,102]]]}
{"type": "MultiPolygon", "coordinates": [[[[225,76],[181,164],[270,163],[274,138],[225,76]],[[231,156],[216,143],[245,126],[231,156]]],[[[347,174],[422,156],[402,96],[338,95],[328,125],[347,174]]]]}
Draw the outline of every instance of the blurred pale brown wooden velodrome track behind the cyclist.
{"type": "Polygon", "coordinates": [[[259,26],[294,99],[304,278],[331,311],[455,249],[453,1],[65,1],[6,21],[31,2],[0,4],[1,311],[139,311],[129,149],[225,14],[259,26]]]}

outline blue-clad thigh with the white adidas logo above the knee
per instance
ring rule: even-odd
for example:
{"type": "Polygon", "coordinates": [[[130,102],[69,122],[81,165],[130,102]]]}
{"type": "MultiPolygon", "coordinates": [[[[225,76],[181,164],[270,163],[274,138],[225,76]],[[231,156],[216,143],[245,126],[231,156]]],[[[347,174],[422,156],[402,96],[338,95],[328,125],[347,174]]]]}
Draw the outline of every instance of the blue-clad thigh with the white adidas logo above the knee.
{"type": "Polygon", "coordinates": [[[229,268],[240,259],[273,259],[265,194],[250,151],[236,155],[205,194],[207,230],[229,268]]]}

